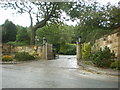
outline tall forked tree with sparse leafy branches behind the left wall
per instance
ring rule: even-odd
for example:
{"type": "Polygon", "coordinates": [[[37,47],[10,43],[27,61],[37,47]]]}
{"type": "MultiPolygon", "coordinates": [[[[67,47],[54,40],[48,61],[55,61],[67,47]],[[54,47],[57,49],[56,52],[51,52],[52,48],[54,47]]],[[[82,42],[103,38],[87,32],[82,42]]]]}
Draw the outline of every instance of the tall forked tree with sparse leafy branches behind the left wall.
{"type": "Polygon", "coordinates": [[[35,43],[35,32],[46,25],[47,21],[56,22],[62,12],[62,2],[2,2],[3,8],[12,8],[19,13],[27,12],[31,21],[31,44],[35,43]],[[36,16],[36,24],[33,25],[33,15],[36,16]]]}

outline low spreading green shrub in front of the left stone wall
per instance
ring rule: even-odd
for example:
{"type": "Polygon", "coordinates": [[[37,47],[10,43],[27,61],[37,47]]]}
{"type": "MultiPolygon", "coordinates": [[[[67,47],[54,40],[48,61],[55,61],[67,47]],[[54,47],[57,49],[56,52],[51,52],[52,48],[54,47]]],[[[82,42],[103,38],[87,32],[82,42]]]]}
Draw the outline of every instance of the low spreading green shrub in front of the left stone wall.
{"type": "Polygon", "coordinates": [[[24,61],[24,60],[34,60],[35,57],[32,55],[29,55],[27,52],[19,52],[15,54],[15,59],[19,61],[24,61]]]}

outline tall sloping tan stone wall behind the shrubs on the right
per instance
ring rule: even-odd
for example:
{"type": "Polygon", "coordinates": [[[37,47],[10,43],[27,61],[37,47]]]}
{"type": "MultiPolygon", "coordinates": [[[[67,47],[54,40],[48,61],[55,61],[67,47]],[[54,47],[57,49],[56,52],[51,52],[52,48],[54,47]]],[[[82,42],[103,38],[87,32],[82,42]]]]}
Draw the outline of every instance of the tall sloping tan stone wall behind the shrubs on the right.
{"type": "Polygon", "coordinates": [[[116,57],[120,59],[120,28],[116,32],[96,40],[92,51],[96,51],[99,48],[103,49],[105,46],[114,51],[116,57]]]}

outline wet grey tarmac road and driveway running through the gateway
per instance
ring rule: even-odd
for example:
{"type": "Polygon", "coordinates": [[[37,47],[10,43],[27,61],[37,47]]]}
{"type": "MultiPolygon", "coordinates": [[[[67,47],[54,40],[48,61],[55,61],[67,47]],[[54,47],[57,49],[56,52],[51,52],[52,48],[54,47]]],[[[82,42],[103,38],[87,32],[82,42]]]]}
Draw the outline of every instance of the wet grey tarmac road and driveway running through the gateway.
{"type": "Polygon", "coordinates": [[[79,69],[75,56],[2,65],[3,88],[118,88],[118,78],[79,69]]]}

